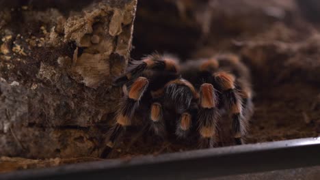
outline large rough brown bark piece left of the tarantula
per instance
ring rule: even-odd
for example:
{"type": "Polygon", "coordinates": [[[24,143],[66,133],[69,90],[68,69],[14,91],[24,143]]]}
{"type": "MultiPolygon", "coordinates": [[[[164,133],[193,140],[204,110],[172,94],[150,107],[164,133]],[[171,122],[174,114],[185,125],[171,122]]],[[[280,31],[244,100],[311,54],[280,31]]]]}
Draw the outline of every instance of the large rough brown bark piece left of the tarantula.
{"type": "Polygon", "coordinates": [[[97,156],[120,97],[137,2],[56,3],[0,11],[0,155],[97,156]]]}

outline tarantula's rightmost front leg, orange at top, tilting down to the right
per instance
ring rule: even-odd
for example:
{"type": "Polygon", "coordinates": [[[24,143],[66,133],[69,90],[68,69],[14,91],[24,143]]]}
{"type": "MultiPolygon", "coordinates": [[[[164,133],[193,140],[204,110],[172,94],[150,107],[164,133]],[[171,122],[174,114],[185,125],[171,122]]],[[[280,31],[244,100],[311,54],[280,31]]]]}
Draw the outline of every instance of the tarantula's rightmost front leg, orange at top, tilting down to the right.
{"type": "Polygon", "coordinates": [[[235,89],[235,77],[226,72],[219,72],[214,75],[215,81],[222,89],[222,100],[226,108],[230,110],[232,117],[232,132],[234,134],[235,143],[241,145],[243,143],[242,135],[245,134],[245,125],[243,121],[243,107],[240,95],[235,89]]]}

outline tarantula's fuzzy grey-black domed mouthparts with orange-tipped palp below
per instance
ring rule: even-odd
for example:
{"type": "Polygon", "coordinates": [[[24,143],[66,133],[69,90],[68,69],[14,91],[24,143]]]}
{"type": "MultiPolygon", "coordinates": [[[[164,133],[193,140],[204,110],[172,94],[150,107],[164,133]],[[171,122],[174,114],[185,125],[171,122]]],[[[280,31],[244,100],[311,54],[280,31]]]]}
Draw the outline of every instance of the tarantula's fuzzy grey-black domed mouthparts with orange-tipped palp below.
{"type": "Polygon", "coordinates": [[[198,93],[189,81],[177,78],[165,85],[165,99],[175,104],[176,112],[180,115],[176,123],[176,136],[185,138],[191,130],[192,119],[196,115],[198,107],[195,101],[198,100],[198,93]]]}

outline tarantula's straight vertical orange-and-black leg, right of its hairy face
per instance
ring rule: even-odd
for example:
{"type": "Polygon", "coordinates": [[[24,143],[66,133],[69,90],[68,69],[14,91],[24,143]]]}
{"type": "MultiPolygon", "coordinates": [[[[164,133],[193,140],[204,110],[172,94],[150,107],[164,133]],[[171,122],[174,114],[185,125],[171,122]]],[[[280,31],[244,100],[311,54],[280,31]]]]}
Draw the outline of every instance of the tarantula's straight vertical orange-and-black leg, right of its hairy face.
{"type": "Polygon", "coordinates": [[[213,147],[216,143],[217,121],[219,111],[213,85],[204,83],[200,87],[200,101],[198,112],[198,132],[200,134],[200,147],[213,147]]]}

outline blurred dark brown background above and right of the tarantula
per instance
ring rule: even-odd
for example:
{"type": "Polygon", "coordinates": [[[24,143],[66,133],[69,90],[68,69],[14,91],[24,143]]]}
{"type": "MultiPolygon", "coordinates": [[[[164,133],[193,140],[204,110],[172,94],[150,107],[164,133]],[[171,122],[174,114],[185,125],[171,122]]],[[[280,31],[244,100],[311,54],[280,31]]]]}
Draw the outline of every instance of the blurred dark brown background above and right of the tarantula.
{"type": "Polygon", "coordinates": [[[253,76],[256,104],[248,142],[320,133],[319,1],[140,0],[133,50],[183,61],[240,55],[253,76]]]}

